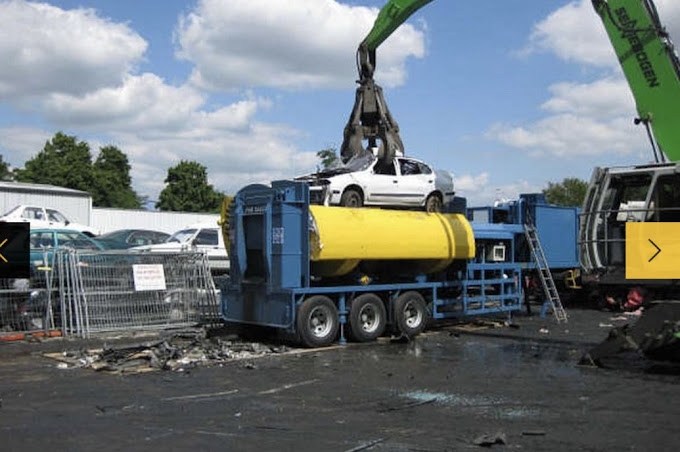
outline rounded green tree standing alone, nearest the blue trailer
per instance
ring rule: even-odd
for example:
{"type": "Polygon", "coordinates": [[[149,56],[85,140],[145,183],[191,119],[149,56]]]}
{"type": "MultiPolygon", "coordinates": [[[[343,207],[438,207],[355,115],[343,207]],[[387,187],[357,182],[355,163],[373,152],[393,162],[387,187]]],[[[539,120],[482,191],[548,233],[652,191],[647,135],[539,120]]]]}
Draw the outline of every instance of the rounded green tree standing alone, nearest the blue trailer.
{"type": "Polygon", "coordinates": [[[160,210],[175,212],[219,212],[224,195],[208,184],[206,167],[182,160],[168,169],[165,188],[156,203],[160,210]]]}

